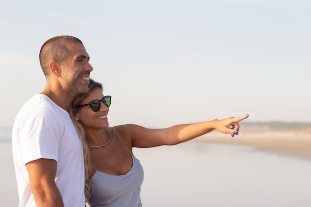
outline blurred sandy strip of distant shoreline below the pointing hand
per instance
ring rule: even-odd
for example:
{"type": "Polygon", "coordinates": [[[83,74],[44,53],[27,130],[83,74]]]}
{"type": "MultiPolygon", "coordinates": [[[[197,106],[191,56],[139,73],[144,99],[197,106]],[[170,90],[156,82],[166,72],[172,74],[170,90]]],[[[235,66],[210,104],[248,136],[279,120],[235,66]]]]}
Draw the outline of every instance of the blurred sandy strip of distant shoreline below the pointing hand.
{"type": "Polygon", "coordinates": [[[284,131],[274,130],[266,132],[243,131],[239,135],[221,134],[213,131],[194,141],[207,143],[254,146],[262,151],[270,151],[283,155],[311,159],[310,130],[284,131]]]}

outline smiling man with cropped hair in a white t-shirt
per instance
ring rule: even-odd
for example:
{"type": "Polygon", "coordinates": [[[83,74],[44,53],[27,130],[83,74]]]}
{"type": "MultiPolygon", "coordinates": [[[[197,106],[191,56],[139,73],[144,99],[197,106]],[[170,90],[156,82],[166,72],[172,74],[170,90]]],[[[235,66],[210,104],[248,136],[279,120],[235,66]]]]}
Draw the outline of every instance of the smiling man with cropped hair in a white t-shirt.
{"type": "Polygon", "coordinates": [[[84,207],[83,148],[67,110],[88,91],[93,68],[72,36],[49,39],[39,58],[46,86],[21,108],[12,130],[19,207],[84,207]]]}

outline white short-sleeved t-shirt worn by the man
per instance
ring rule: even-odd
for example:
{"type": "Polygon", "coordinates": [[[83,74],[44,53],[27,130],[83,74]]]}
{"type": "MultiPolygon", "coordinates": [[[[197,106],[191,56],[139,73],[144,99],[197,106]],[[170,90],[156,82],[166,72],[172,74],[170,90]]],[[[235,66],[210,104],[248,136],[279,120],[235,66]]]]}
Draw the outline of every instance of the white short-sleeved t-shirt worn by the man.
{"type": "Polygon", "coordinates": [[[34,95],[17,114],[12,130],[19,207],[36,207],[25,164],[57,161],[56,185],[65,207],[84,207],[83,148],[69,113],[45,95],[34,95]]]}

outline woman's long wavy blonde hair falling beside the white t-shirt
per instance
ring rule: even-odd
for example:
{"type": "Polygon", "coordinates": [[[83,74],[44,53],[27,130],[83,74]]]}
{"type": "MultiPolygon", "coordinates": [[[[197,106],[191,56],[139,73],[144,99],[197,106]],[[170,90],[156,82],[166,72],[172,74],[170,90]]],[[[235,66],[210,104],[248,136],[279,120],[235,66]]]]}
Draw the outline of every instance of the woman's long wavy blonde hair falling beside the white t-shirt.
{"type": "Polygon", "coordinates": [[[102,84],[95,82],[92,79],[89,79],[89,85],[88,85],[88,92],[82,93],[77,95],[73,101],[70,104],[69,107],[69,114],[71,119],[74,122],[74,125],[77,129],[78,135],[81,139],[82,146],[83,146],[83,156],[84,156],[84,170],[85,170],[85,184],[84,184],[84,194],[85,194],[85,200],[88,202],[89,198],[91,196],[91,191],[93,184],[90,180],[91,171],[92,171],[92,163],[89,156],[88,146],[87,146],[87,135],[84,129],[84,126],[77,120],[76,113],[80,110],[79,108],[76,108],[78,105],[81,105],[82,101],[88,97],[89,93],[94,88],[100,88],[103,90],[102,84]]]}

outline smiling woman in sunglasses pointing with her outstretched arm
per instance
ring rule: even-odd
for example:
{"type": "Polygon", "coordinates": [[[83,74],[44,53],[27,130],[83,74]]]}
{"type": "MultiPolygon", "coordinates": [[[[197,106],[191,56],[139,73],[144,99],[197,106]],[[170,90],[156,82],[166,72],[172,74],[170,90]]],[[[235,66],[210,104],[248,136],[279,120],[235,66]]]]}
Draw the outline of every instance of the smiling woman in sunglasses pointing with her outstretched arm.
{"type": "Polygon", "coordinates": [[[133,147],[174,145],[207,134],[214,129],[238,134],[237,122],[248,115],[166,129],[147,129],[134,124],[108,128],[111,96],[102,84],[90,79],[89,91],[74,98],[70,114],[83,142],[85,196],[92,207],[140,207],[144,172],[133,155],[133,147]]]}

